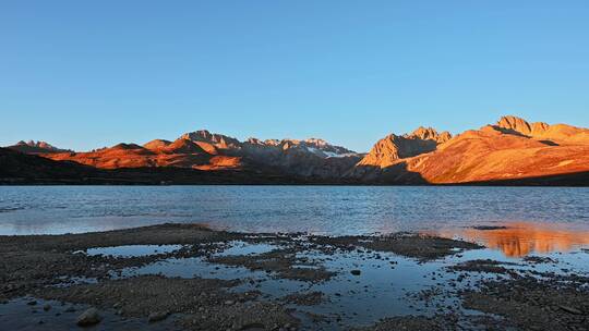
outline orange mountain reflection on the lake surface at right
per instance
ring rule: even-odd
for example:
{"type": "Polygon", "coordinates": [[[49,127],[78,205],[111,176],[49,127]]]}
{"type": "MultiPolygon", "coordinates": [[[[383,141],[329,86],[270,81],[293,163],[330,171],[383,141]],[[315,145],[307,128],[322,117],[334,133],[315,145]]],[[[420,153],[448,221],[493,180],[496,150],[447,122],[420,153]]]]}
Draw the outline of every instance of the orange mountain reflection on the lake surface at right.
{"type": "Polygon", "coordinates": [[[477,230],[470,228],[444,231],[438,234],[481,243],[489,248],[500,249],[507,257],[524,257],[531,253],[569,252],[589,246],[588,231],[528,222],[513,222],[502,225],[506,229],[477,230]]]}

